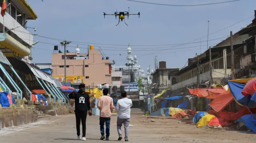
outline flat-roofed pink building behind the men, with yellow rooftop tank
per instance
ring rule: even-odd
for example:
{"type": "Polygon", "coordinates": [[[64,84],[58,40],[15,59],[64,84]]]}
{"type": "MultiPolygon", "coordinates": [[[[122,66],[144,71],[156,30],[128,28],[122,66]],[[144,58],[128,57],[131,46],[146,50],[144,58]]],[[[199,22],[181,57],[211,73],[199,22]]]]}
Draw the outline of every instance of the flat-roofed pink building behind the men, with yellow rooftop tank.
{"type": "MultiPolygon", "coordinates": [[[[83,76],[82,82],[87,86],[97,84],[111,84],[111,65],[107,59],[102,59],[98,49],[90,45],[88,54],[66,53],[66,76],[83,76]]],[[[64,72],[64,53],[52,54],[52,76],[63,77],[64,72]]],[[[68,82],[68,81],[67,81],[68,82]]]]}

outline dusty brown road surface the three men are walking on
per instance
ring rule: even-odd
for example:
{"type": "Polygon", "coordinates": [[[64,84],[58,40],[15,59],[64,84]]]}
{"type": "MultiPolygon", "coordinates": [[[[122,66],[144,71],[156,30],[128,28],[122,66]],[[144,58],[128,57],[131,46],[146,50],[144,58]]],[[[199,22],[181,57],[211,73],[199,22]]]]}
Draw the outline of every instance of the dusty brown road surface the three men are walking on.
{"type": "MultiPolygon", "coordinates": [[[[256,134],[226,131],[224,129],[196,128],[195,125],[178,123],[176,119],[147,118],[132,116],[129,141],[132,143],[255,143],[256,134]],[[151,122],[150,120],[154,120],[151,122]]],[[[87,118],[86,141],[101,143],[99,117],[87,118]]],[[[111,118],[110,143],[117,140],[116,117],[111,118]]],[[[123,129],[124,130],[124,129],[123,129]]],[[[53,116],[40,119],[36,123],[2,129],[0,131],[1,143],[75,143],[76,140],[75,116],[53,116]]]]}

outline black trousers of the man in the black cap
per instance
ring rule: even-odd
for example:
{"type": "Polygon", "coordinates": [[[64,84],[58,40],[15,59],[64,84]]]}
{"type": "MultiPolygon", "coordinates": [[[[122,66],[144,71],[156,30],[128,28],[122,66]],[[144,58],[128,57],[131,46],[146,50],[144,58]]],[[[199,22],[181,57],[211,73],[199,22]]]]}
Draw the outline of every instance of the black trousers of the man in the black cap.
{"type": "Polygon", "coordinates": [[[77,132],[77,136],[80,135],[80,123],[82,121],[82,133],[83,133],[82,137],[85,137],[87,111],[76,110],[75,114],[76,114],[76,132],[77,132]]]}

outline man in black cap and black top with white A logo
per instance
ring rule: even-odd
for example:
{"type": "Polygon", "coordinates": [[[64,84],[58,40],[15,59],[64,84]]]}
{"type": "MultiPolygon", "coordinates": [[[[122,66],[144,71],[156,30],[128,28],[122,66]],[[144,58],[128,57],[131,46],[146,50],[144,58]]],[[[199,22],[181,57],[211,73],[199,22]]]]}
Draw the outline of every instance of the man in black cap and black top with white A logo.
{"type": "Polygon", "coordinates": [[[76,131],[78,140],[86,140],[86,117],[87,111],[89,111],[89,116],[92,116],[92,111],[90,107],[90,96],[85,92],[85,85],[79,84],[79,91],[75,90],[69,94],[70,99],[75,100],[75,114],[76,114],[76,131]],[[82,121],[82,139],[80,137],[80,122],[82,121]]]}

